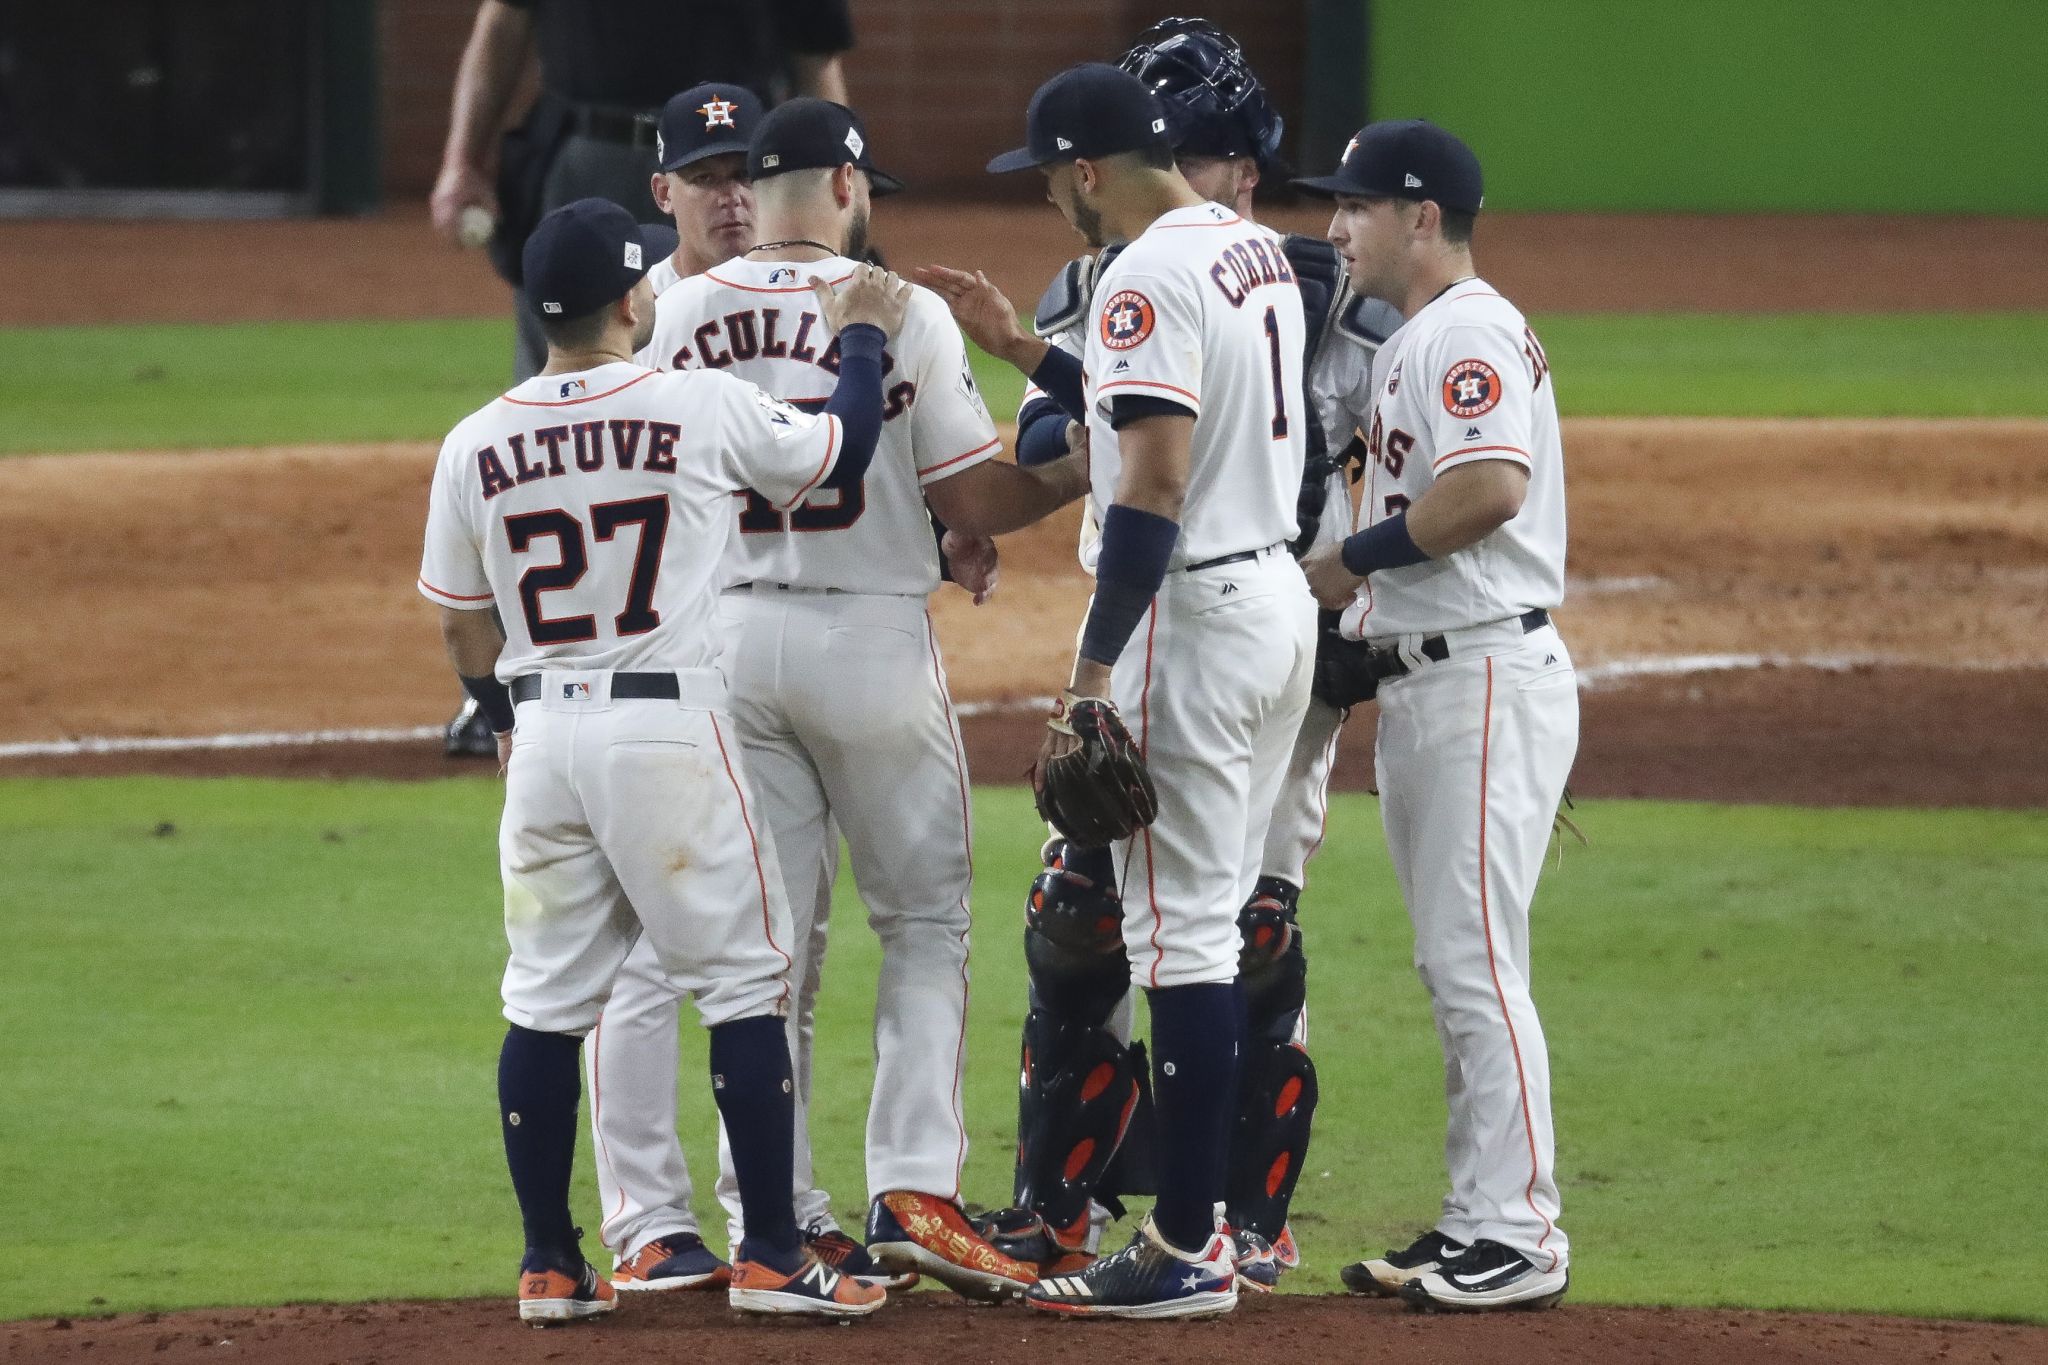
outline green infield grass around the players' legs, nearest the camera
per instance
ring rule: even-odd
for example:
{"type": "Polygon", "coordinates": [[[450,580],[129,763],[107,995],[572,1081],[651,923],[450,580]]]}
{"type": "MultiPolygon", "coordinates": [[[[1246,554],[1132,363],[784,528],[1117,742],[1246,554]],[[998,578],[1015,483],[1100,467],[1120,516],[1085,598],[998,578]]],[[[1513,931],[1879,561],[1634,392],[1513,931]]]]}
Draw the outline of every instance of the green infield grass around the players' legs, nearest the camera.
{"type": "MultiPolygon", "coordinates": [[[[0,782],[0,1316],[508,1291],[496,810],[489,780],[0,782]]],[[[1581,814],[1593,847],[1536,925],[1575,1300],[2048,1318],[2023,1195],[2048,1169],[2048,814],[1581,814]]],[[[1018,790],[977,819],[969,1193],[1001,1201],[1038,835],[1018,790]]],[[[1370,798],[1331,831],[1309,1291],[1427,1224],[1442,1179],[1370,798]]],[[[831,954],[815,1132],[856,1218],[877,952],[846,886],[831,954]]],[[[709,1115],[692,1027],[700,1173],[709,1115]]]]}

